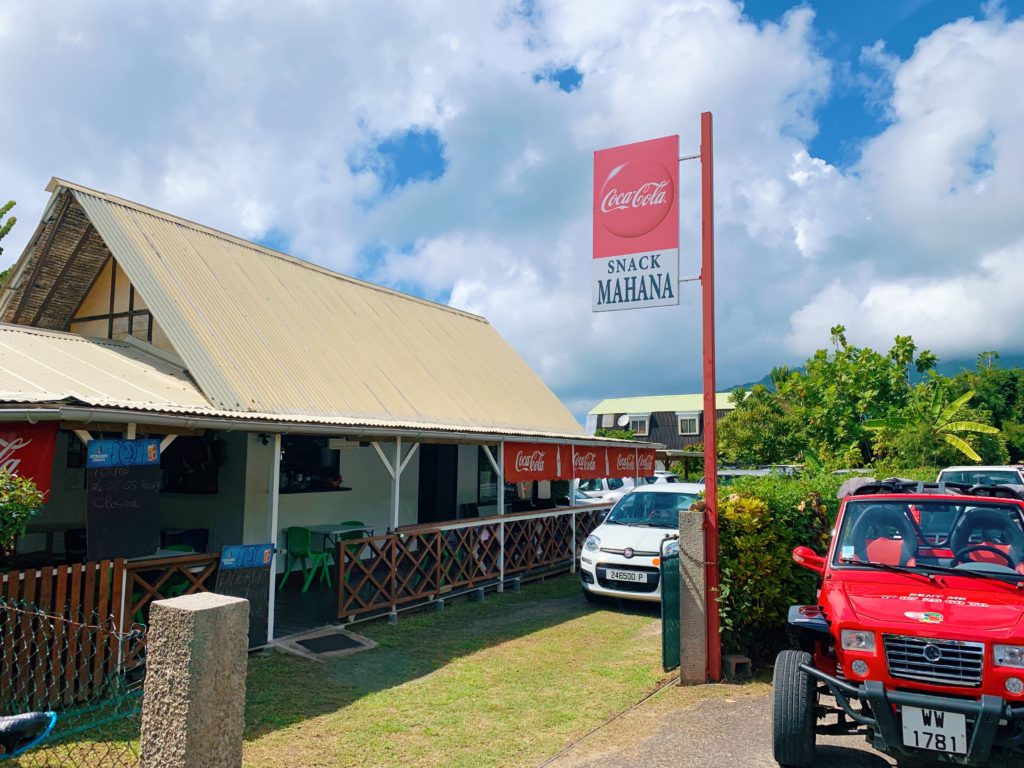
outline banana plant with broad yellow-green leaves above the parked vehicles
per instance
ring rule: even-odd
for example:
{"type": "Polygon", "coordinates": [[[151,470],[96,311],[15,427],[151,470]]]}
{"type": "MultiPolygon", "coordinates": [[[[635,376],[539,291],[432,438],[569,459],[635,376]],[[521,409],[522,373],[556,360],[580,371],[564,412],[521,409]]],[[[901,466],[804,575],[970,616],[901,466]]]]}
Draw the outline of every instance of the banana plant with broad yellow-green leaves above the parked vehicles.
{"type": "MultiPolygon", "coordinates": [[[[973,389],[948,404],[945,402],[945,380],[933,377],[930,382],[914,390],[914,396],[903,414],[868,419],[864,422],[864,429],[902,434],[902,439],[896,437],[894,442],[897,447],[902,443],[904,451],[908,442],[923,442],[925,447],[928,447],[929,442],[933,447],[934,443],[945,442],[971,461],[981,462],[981,456],[968,441],[969,436],[998,434],[999,430],[990,424],[969,418],[966,406],[975,395],[973,389]]],[[[912,461],[916,457],[902,458],[912,461]]]]}

